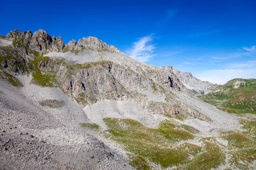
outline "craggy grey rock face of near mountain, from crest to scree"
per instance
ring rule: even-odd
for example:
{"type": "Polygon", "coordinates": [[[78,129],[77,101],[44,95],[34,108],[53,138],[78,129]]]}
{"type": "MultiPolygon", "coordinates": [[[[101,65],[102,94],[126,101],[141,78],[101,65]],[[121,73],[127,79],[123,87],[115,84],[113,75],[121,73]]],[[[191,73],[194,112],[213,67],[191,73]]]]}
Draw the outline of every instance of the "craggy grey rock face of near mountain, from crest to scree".
{"type": "MultiPolygon", "coordinates": [[[[0,47],[0,56],[3,56],[1,68],[11,74],[32,73],[33,83],[43,87],[60,88],[65,94],[76,99],[81,107],[104,99],[154,101],[154,107],[157,106],[157,109],[149,106],[148,110],[160,113],[166,110],[165,108],[181,104],[175,100],[174,93],[183,91],[190,95],[173,72],[131,59],[114,46],[109,46],[95,37],[83,38],[78,42],[71,40],[65,45],[61,37],[51,37],[44,30],[35,31],[34,34],[31,31],[20,33],[13,30],[4,39],[12,41],[13,46],[8,46],[8,49],[0,47]],[[50,52],[63,55],[67,51],[77,54],[83,50],[93,51],[95,55],[89,57],[94,57],[96,62],[74,64],[65,59],[58,60],[47,56],[50,52]],[[97,59],[97,56],[101,56],[100,59],[97,59]],[[158,99],[157,96],[163,96],[163,99],[158,99]]],[[[65,54],[66,57],[70,55],[74,54],[65,54]]],[[[77,57],[80,55],[84,57],[84,54],[77,57]]],[[[0,75],[8,79],[4,72],[0,75]]],[[[16,81],[15,77],[13,81],[16,81]]],[[[207,116],[202,116],[185,104],[183,108],[178,107],[176,110],[175,112],[167,109],[163,114],[209,120],[207,116]]]]}

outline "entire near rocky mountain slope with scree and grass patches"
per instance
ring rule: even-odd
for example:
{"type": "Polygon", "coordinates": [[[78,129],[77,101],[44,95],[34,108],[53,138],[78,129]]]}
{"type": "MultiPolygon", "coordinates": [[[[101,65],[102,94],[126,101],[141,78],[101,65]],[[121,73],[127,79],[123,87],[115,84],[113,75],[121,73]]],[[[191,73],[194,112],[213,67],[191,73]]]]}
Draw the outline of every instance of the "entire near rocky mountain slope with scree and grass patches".
{"type": "Polygon", "coordinates": [[[95,37],[0,38],[0,169],[254,169],[244,115],[95,37]]]}

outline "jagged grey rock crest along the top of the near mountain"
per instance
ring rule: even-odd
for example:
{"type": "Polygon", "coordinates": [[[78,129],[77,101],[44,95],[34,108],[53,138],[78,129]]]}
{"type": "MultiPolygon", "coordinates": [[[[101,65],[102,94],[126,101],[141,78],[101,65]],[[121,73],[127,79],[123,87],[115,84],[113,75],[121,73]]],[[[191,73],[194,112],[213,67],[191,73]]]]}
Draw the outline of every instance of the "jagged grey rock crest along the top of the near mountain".
{"type": "Polygon", "coordinates": [[[96,37],[86,37],[79,39],[78,42],[71,40],[68,44],[64,44],[61,37],[51,37],[46,31],[39,29],[32,34],[31,31],[18,30],[10,31],[6,40],[22,40],[23,46],[32,48],[35,51],[51,51],[51,52],[67,52],[72,51],[78,53],[84,49],[91,49],[97,51],[111,51],[119,52],[113,45],[107,45],[105,42],[96,37]]]}

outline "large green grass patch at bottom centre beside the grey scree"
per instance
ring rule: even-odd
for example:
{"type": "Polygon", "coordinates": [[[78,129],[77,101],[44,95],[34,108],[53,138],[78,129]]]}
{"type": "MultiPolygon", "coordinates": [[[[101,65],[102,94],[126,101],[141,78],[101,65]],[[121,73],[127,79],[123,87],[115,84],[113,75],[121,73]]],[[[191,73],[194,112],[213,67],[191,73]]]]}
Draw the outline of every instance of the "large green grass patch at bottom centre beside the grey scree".
{"type": "MultiPolygon", "coordinates": [[[[156,164],[166,168],[184,164],[189,156],[195,156],[200,147],[183,144],[177,147],[177,140],[192,139],[193,135],[186,130],[174,129],[175,125],[169,121],[161,122],[157,129],[143,126],[133,119],[104,118],[110,128],[106,137],[122,144],[128,152],[148,158],[156,164]]],[[[177,127],[176,127],[177,128],[177,127]]]]}

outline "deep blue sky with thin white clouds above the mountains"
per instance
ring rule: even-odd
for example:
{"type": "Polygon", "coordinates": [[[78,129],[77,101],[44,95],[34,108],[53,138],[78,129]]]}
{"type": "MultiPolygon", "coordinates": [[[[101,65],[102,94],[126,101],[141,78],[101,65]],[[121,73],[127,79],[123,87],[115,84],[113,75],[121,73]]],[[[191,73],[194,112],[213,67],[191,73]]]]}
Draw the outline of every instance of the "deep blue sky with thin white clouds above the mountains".
{"type": "Polygon", "coordinates": [[[254,0],[2,1],[0,34],[44,29],[94,36],[154,66],[172,65],[223,84],[256,78],[254,0]]]}

